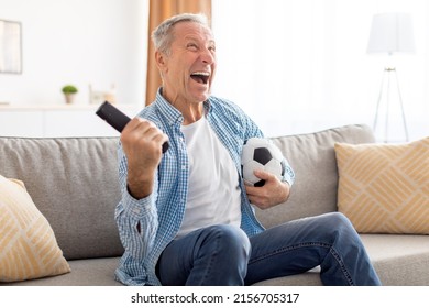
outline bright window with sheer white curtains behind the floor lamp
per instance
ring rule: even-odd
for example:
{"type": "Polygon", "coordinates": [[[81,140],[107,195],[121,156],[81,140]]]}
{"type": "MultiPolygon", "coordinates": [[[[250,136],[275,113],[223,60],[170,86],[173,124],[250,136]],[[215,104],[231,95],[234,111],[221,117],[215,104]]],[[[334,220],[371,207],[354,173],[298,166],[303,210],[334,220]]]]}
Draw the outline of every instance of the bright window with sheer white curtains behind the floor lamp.
{"type": "Polygon", "coordinates": [[[429,135],[429,2],[212,1],[213,95],[240,105],[266,135],[373,124],[383,69],[398,72],[411,139],[429,135]],[[372,18],[411,13],[417,54],[366,54],[372,18]]]}

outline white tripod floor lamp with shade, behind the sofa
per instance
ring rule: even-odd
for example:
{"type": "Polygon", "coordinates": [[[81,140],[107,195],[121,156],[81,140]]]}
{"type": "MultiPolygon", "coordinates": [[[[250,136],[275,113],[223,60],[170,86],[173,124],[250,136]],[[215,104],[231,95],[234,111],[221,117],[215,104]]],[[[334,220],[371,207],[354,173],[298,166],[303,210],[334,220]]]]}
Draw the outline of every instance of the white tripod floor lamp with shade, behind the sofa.
{"type": "MultiPolygon", "coordinates": [[[[372,22],[370,42],[367,46],[369,54],[384,53],[391,58],[394,54],[398,53],[415,53],[415,42],[413,33],[413,20],[409,14],[406,13],[382,13],[375,14],[372,22]]],[[[391,91],[393,90],[392,84],[395,82],[396,95],[398,100],[398,108],[400,110],[400,120],[403,122],[403,129],[406,141],[409,141],[408,128],[404,112],[403,97],[399,89],[399,81],[397,70],[395,67],[385,67],[382,78],[382,86],[378,94],[377,106],[375,110],[373,130],[384,132],[378,138],[382,138],[384,142],[388,142],[389,135],[389,117],[392,112],[391,91]],[[385,94],[385,119],[381,119],[382,99],[385,94]],[[384,129],[381,128],[384,120],[384,129]]],[[[376,133],[377,134],[377,133],[376,133]]]]}

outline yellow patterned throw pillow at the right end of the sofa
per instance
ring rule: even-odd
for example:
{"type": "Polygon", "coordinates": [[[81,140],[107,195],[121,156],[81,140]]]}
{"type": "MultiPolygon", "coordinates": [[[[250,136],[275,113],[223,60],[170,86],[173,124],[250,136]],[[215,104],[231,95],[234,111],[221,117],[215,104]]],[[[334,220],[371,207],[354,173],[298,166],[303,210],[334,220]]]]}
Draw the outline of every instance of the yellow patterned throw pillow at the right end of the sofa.
{"type": "Polygon", "coordinates": [[[334,150],[338,209],[359,232],[429,234],[429,138],[334,150]]]}

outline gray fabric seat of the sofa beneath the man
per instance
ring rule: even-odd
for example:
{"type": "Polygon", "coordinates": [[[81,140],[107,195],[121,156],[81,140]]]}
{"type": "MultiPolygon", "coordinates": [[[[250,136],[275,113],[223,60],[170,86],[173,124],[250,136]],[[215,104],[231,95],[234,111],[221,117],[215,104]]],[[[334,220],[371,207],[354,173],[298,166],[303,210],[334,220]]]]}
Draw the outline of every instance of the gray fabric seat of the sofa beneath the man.
{"type": "MultiPolygon", "coordinates": [[[[429,235],[362,234],[362,241],[383,285],[429,285],[429,235]],[[406,277],[406,279],[404,278],[406,277]]],[[[119,286],[113,279],[119,257],[69,261],[69,274],[19,283],[40,286],[119,286]]],[[[266,279],[257,286],[320,286],[320,268],[266,279]]],[[[14,285],[14,283],[8,284],[14,285]]]]}

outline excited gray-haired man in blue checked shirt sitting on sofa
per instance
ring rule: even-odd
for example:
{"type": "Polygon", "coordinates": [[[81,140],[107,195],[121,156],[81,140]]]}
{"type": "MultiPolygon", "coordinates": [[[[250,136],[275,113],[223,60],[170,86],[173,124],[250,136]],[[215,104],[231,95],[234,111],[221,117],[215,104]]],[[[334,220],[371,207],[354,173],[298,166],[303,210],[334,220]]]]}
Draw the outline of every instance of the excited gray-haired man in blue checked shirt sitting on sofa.
{"type": "Polygon", "coordinates": [[[257,170],[244,186],[244,141],[262,136],[230,101],[210,95],[216,43],[207,20],[180,14],[153,33],[163,79],[155,101],[121,134],[122,199],[116,211],[125,252],[116,272],[127,285],[250,285],[321,266],[327,285],[378,285],[365,250],[340,213],[264,230],[252,205],[287,200],[282,180],[257,170]],[[169,150],[162,154],[168,140],[169,150]]]}

